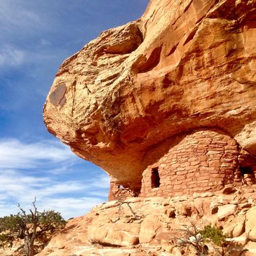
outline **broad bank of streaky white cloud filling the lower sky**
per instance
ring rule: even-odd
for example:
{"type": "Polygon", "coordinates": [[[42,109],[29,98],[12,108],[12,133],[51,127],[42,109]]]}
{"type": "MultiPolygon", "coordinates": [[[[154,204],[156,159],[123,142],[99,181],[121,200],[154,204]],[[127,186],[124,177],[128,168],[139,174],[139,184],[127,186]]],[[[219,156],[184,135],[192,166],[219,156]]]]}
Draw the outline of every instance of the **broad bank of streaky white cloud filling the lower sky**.
{"type": "MultiPolygon", "coordinates": [[[[58,142],[27,144],[15,139],[1,140],[0,216],[17,213],[18,203],[28,209],[34,197],[39,210],[54,209],[65,218],[83,215],[105,201],[109,178],[104,173],[86,181],[74,173],[65,180],[59,180],[59,175],[50,175],[56,163],[58,166],[75,166],[76,159],[65,145],[58,142]],[[42,166],[47,171],[42,170],[42,166]],[[46,171],[44,177],[43,171],[46,171]]],[[[60,170],[56,174],[58,172],[60,170]]]]}

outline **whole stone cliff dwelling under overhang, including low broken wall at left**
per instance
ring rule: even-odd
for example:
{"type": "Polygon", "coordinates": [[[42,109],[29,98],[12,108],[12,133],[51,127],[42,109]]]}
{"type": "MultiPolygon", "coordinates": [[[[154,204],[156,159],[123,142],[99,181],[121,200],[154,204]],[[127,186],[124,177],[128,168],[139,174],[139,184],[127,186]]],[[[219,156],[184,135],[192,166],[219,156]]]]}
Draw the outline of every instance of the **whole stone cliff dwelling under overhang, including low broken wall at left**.
{"type": "MultiPolygon", "coordinates": [[[[157,150],[156,146],[151,154],[157,150]]],[[[112,181],[109,200],[217,191],[226,184],[252,185],[255,174],[256,160],[230,135],[217,129],[193,130],[172,138],[165,154],[143,171],[139,193],[112,181]]]]}

